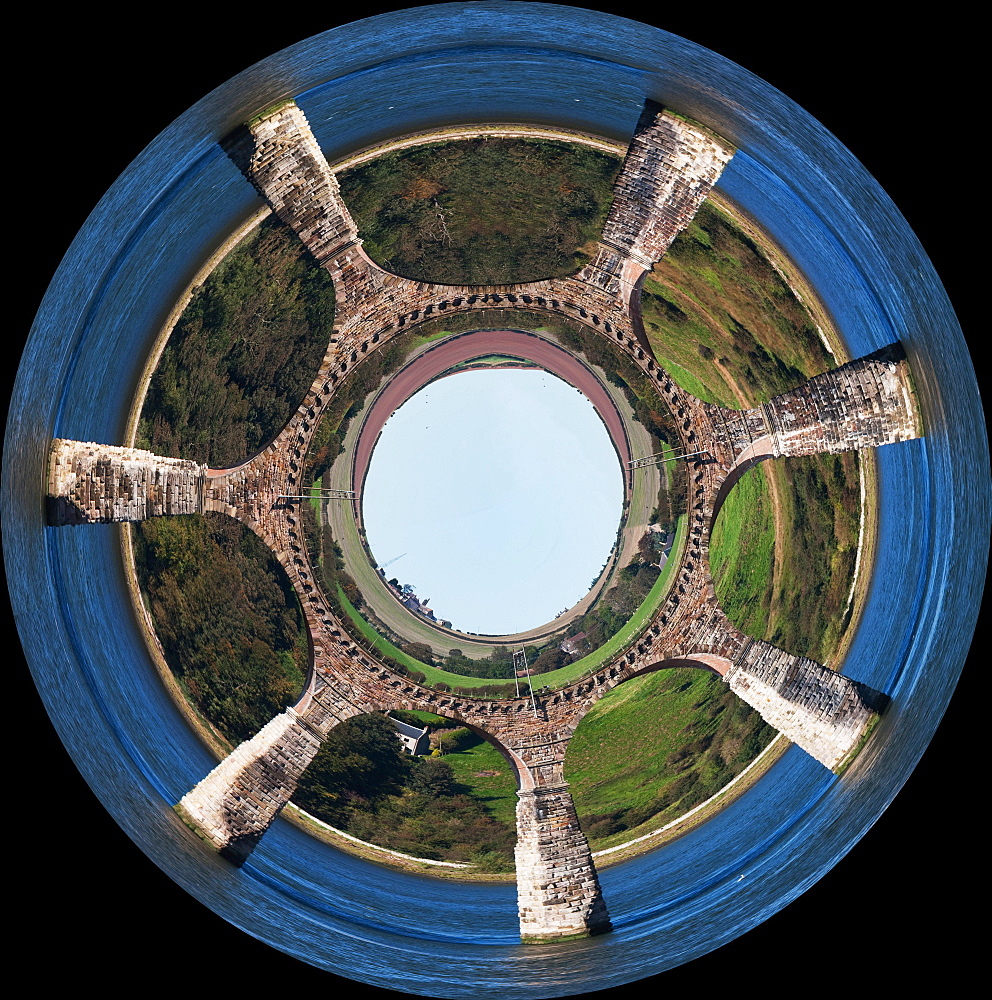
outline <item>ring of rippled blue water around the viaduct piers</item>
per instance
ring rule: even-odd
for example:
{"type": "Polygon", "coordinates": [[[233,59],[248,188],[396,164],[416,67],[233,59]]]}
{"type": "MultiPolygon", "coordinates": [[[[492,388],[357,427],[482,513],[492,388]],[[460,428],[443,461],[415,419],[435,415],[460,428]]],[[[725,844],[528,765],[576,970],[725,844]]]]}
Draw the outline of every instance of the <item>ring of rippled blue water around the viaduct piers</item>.
{"type": "MultiPolygon", "coordinates": [[[[739,66],[656,28],[553,5],[445,4],[345,25],[251,67],[177,119],[108,191],[51,284],[14,387],[4,466],[5,559],[25,656],[62,742],[116,822],[254,937],[340,976],[428,996],[486,988],[529,1000],[631,983],[799,897],[876,821],[926,748],[965,660],[987,559],[988,446],[972,364],[929,260],[877,183],[739,66]],[[605,869],[612,934],[522,947],[512,886],[402,875],[282,821],[239,870],[210,855],[171,806],[214,761],[148,662],[116,529],[44,526],[51,438],[122,440],[176,296],[259,204],[217,140],[284,96],[332,159],[473,120],[623,139],[645,97],[661,101],[738,147],[721,189],[802,268],[851,354],[896,339],[906,347],[926,436],[878,452],[879,557],[844,665],[888,694],[890,711],[842,778],[792,748],[700,829],[605,869]]],[[[86,864],[70,834],[67,856],[49,863],[86,864]]],[[[880,872],[870,889],[905,874],[880,872]]],[[[46,884],[52,892],[57,882],[46,884]]],[[[870,920],[859,916],[869,887],[849,891],[848,933],[870,920]]]]}

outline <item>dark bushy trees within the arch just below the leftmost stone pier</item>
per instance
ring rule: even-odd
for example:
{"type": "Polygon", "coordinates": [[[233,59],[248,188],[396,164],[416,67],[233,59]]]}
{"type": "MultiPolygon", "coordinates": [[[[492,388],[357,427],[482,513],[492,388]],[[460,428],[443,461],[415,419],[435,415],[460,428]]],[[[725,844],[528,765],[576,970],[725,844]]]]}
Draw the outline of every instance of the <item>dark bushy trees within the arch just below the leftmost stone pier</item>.
{"type": "Polygon", "coordinates": [[[289,579],[222,514],[133,525],[135,563],[165,658],[186,698],[232,744],[300,696],[306,627],[289,579]]]}

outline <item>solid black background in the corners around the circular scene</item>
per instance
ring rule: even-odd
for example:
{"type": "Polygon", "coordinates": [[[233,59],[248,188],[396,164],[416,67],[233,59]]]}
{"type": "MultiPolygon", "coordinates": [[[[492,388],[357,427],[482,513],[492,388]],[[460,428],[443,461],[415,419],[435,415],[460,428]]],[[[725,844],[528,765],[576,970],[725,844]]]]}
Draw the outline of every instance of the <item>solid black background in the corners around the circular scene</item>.
{"type": "MultiPolygon", "coordinates": [[[[977,48],[968,39],[975,27],[953,17],[953,5],[940,8],[940,19],[898,24],[866,22],[860,6],[831,5],[805,25],[797,20],[798,6],[755,13],[742,5],[720,16],[688,6],[696,16],[680,10],[651,22],[752,70],[845,142],[927,248],[967,334],[976,299],[973,227],[985,215],[984,167],[967,157],[988,132],[968,90],[977,48]]],[[[153,18],[160,12],[157,19],[145,21],[135,6],[80,6],[58,17],[38,8],[27,12],[30,28],[9,37],[11,51],[28,60],[7,101],[6,153],[17,164],[11,172],[8,163],[13,198],[7,209],[14,213],[12,246],[23,272],[7,287],[7,305],[15,311],[7,331],[9,378],[69,242],[145,144],[248,65],[335,24],[393,8],[356,6],[349,15],[323,19],[296,9],[284,24],[274,23],[274,10],[256,20],[227,5],[146,9],[153,18]],[[74,120],[46,131],[49,97],[61,115],[67,92],[76,95],[74,120]],[[21,159],[22,149],[47,158],[21,159]],[[29,196],[45,191],[48,199],[29,196]]],[[[601,9],[647,19],[622,4],[601,9]]],[[[970,343],[974,351],[974,339],[970,343]]],[[[8,759],[8,777],[24,796],[8,802],[7,827],[16,836],[9,857],[17,862],[8,873],[7,910],[23,938],[8,959],[10,972],[28,973],[38,987],[52,989],[103,983],[115,992],[157,993],[161,983],[162,989],[250,995],[281,984],[390,995],[254,941],[163,875],[79,778],[16,643],[9,648],[15,650],[10,676],[21,682],[8,712],[27,724],[8,759]]],[[[984,909],[979,893],[987,891],[978,886],[987,867],[988,840],[977,818],[986,797],[985,767],[973,728],[985,716],[976,681],[983,659],[973,649],[929,752],[848,858],[744,938],[610,994],[698,990],[701,977],[710,993],[743,987],[817,995],[858,989],[860,976],[869,989],[918,980],[922,987],[928,974],[963,985],[978,966],[972,921],[984,909]],[[978,914],[968,912],[973,897],[978,914]]]]}

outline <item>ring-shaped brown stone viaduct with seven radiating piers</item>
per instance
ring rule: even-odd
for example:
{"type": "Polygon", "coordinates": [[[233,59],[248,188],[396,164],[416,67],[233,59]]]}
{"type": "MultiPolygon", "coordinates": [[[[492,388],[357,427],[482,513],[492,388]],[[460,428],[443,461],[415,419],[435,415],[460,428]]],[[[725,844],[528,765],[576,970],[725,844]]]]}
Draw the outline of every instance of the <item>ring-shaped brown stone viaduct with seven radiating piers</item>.
{"type": "Polygon", "coordinates": [[[306,690],[179,803],[206,841],[235,862],[243,860],[338,723],[389,708],[435,712],[490,739],[516,770],[523,940],[594,934],[609,929],[609,916],[562,766],[579,721],[617,685],[660,667],[703,667],[826,767],[838,767],[857,749],[884,697],[735,628],[714,594],[708,543],[727,491],[756,462],[918,436],[908,371],[893,345],[760,407],[733,411],[700,402],[658,366],[640,324],[639,285],[697,211],[732,150],[702,127],[649,103],[586,267],[565,279],[452,287],[402,278],[369,260],[337,181],[294,104],[239,130],[225,148],[333,276],[334,332],[317,377],[286,427],[238,468],[208,469],[132,448],[56,440],[48,490],[54,524],[227,513],[276,553],[299,595],[312,640],[306,690]],[[300,491],[303,459],[322,410],[366,354],[426,318],[494,305],[564,315],[609,338],[656,380],[679,418],[683,453],[702,453],[686,459],[687,542],[660,610],[612,662],[540,694],[536,708],[530,699],[486,700],[423,687],[357,646],[316,583],[298,513],[278,499],[300,491]]]}

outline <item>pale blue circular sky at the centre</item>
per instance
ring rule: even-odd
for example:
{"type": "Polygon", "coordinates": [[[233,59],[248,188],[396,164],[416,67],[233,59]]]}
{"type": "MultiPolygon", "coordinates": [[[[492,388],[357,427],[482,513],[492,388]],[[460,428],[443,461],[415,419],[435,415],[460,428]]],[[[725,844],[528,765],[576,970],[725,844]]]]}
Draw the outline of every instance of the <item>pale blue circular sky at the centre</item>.
{"type": "Polygon", "coordinates": [[[616,537],[623,481],[592,404],[544,371],[466,372],[387,421],[364,492],[387,578],[463,632],[549,621],[585,594],[616,537]]]}

